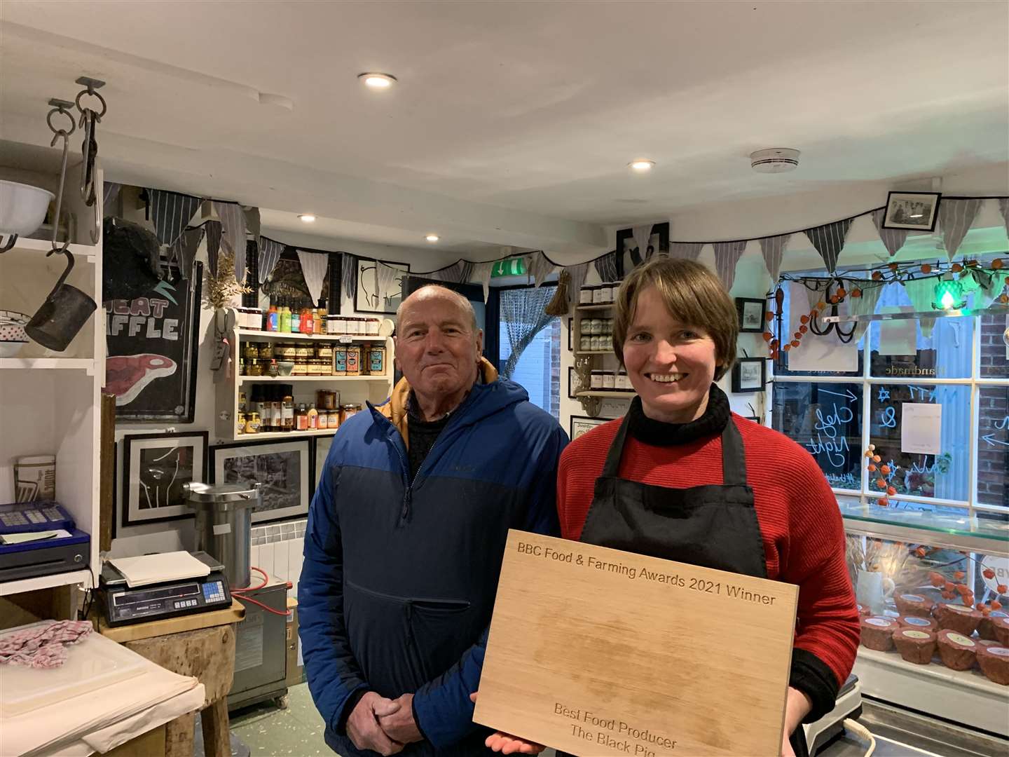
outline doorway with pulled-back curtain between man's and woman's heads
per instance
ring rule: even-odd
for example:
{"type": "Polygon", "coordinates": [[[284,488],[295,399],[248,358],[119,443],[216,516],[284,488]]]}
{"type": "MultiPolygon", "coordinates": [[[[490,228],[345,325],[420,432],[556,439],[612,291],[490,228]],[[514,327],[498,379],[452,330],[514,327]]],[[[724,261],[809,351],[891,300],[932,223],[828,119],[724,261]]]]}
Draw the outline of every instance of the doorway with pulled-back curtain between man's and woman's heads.
{"type": "Polygon", "coordinates": [[[498,366],[529,393],[530,402],[560,419],[561,321],[543,308],[555,287],[500,292],[498,366]],[[513,343],[519,355],[513,360],[513,343]]]}

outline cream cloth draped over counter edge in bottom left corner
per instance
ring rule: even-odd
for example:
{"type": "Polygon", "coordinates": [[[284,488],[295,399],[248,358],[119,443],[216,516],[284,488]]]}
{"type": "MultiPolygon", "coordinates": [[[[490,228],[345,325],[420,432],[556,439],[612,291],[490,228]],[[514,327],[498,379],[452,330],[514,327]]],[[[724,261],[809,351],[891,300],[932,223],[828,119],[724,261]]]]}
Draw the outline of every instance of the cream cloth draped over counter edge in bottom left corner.
{"type": "MultiPolygon", "coordinates": [[[[115,644],[97,634],[94,637],[115,644]]],[[[0,718],[0,755],[59,754],[64,746],[114,729],[116,724],[195,688],[200,691],[194,710],[202,706],[203,684],[196,678],[165,670],[125,647],[121,652],[136,656],[141,666],[139,674],[22,715],[0,718]]]]}

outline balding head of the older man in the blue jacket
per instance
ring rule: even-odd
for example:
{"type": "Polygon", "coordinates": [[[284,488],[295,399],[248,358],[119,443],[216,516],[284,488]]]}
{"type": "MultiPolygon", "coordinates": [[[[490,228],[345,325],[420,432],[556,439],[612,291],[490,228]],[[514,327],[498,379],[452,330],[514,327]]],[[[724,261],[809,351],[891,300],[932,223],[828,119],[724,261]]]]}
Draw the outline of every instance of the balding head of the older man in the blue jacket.
{"type": "Polygon", "coordinates": [[[473,333],[467,313],[450,295],[422,290],[400,311],[396,361],[413,390],[424,397],[448,397],[476,381],[483,332],[473,333]]]}

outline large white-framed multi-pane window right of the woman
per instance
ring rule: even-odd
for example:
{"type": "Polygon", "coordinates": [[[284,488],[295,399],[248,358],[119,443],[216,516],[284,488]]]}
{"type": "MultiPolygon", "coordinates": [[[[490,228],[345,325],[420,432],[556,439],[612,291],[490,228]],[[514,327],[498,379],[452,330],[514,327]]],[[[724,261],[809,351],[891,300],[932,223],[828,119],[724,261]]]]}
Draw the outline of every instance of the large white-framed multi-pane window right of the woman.
{"type": "MultiPolygon", "coordinates": [[[[807,313],[815,298],[798,283],[784,290],[783,320],[794,325],[792,311],[807,313]]],[[[890,284],[875,312],[922,309],[903,286],[890,284]]],[[[1009,520],[1007,327],[1003,314],[863,324],[852,347],[838,350],[846,357],[829,357],[831,370],[802,355],[804,338],[788,355],[799,358],[792,369],[775,368],[773,426],[813,455],[838,499],[874,502],[883,494],[882,475],[882,489],[896,490],[889,498],[896,508],[1009,520]],[[903,415],[911,405],[941,408],[937,454],[903,451],[903,415]],[[869,444],[888,473],[870,475],[863,457],[869,444]]]]}

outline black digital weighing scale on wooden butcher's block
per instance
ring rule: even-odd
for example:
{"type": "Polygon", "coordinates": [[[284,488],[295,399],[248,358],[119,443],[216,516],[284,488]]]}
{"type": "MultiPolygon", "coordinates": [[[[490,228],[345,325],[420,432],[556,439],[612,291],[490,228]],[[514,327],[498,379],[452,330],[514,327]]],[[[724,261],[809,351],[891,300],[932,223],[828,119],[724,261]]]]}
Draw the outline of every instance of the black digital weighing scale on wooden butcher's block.
{"type": "Polygon", "coordinates": [[[124,626],[230,608],[224,566],[206,552],[194,552],[193,556],[210,568],[208,575],[136,588],[130,588],[123,574],[106,562],[99,592],[106,623],[124,626]]]}

